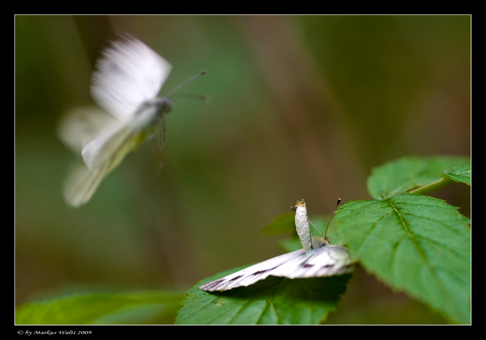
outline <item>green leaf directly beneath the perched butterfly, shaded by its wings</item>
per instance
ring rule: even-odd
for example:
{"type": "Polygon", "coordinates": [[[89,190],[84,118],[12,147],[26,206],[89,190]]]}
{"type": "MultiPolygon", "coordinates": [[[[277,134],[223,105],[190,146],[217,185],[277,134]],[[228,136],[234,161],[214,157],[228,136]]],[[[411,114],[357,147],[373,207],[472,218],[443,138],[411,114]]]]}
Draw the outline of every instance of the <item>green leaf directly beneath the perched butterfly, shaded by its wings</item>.
{"type": "Polygon", "coordinates": [[[207,292],[199,286],[242,270],[221,272],[186,292],[178,324],[318,324],[336,309],[350,274],[310,279],[269,276],[249,287],[207,292]]]}

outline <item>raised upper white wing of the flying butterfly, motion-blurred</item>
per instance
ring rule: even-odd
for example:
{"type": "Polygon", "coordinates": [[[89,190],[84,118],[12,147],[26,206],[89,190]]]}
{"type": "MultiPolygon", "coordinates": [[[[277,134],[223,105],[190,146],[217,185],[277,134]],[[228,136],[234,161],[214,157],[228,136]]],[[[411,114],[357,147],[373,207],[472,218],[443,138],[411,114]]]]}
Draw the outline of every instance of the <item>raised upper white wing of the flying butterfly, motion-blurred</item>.
{"type": "Polygon", "coordinates": [[[142,102],[157,97],[172,66],[131,36],[114,41],[102,54],[91,79],[91,96],[115,118],[126,122],[142,102]]]}

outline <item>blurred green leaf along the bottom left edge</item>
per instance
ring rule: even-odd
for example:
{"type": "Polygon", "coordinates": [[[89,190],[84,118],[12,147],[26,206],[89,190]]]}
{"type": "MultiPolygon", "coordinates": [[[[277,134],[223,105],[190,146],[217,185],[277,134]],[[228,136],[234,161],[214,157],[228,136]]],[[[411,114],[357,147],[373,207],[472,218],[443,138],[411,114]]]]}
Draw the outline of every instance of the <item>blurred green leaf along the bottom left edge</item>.
{"type": "Polygon", "coordinates": [[[147,291],[94,294],[27,303],[16,311],[16,324],[174,323],[180,292],[147,291]]]}

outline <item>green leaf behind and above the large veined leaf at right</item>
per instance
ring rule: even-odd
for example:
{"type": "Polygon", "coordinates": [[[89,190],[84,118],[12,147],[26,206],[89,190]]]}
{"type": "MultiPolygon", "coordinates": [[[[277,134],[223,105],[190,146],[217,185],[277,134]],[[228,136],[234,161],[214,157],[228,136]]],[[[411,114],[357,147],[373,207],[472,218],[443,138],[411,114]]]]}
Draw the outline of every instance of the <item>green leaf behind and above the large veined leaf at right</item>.
{"type": "Polygon", "coordinates": [[[425,194],[452,183],[449,179],[440,177],[440,173],[446,173],[456,166],[467,165],[470,166],[470,159],[467,157],[403,157],[374,168],[368,177],[368,191],[374,199],[384,200],[402,192],[435,184],[427,191],[417,192],[425,194]]]}

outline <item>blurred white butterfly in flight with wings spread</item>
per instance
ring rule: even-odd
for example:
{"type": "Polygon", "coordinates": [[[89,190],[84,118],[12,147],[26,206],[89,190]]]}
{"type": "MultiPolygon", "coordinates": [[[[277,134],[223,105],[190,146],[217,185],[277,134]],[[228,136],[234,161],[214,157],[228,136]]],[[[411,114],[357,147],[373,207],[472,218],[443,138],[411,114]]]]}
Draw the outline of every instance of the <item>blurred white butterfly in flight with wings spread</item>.
{"type": "Polygon", "coordinates": [[[111,118],[99,113],[99,109],[78,109],[60,126],[61,140],[71,149],[81,148],[84,160],[84,164],[70,170],[64,183],[64,198],[71,206],[89,201],[103,178],[126,154],[159,128],[159,111],[164,101],[156,97],[171,65],[141,41],[128,36],[102,51],[96,68],[91,78],[91,96],[111,118]]]}

